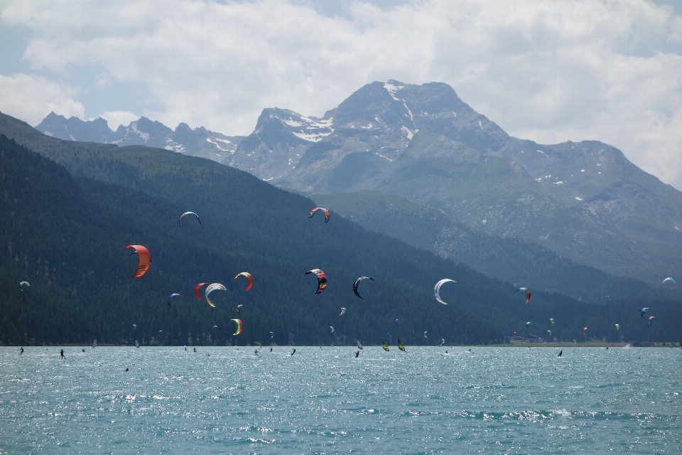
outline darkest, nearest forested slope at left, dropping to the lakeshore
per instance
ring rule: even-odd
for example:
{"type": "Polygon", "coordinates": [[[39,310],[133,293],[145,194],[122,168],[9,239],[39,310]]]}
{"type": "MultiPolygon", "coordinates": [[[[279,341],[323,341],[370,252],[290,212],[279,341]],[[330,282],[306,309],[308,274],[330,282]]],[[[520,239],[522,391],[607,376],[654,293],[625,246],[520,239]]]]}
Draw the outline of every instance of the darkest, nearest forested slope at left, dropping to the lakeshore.
{"type": "MultiPolygon", "coordinates": [[[[423,342],[417,335],[424,326],[459,343],[501,340],[491,323],[433,304],[426,294],[381,271],[374,271],[377,282],[363,290],[366,300],[361,301],[350,289],[359,272],[324,264],[329,287],[316,295],[314,277],[303,274],[312,268],[310,259],[226,230],[210,213],[202,213],[201,224],[186,220],[180,228],[177,206],[140,191],[72,178],[62,166],[4,136],[0,163],[5,195],[0,208],[10,215],[0,220],[3,343],[90,343],[93,338],[180,345],[338,344],[354,338],[378,343],[396,336],[394,317],[404,319],[399,336],[411,343],[423,342]],[[149,271],[139,279],[131,278],[136,257],[123,250],[130,244],[145,245],[152,255],[149,271]],[[244,269],[255,278],[248,293],[242,281],[232,279],[244,269]],[[21,280],[31,286],[19,291],[21,280]],[[205,281],[228,287],[212,294],[215,309],[193,295],[195,284],[205,281]],[[166,304],[171,292],[182,294],[173,299],[172,309],[166,304]],[[239,314],[237,304],[244,305],[239,314]],[[340,306],[348,309],[343,319],[337,316],[340,306]],[[232,336],[232,318],[244,321],[238,337],[232,336]]],[[[259,225],[254,221],[247,228],[259,225]]],[[[268,223],[261,219],[261,229],[268,223]]]]}

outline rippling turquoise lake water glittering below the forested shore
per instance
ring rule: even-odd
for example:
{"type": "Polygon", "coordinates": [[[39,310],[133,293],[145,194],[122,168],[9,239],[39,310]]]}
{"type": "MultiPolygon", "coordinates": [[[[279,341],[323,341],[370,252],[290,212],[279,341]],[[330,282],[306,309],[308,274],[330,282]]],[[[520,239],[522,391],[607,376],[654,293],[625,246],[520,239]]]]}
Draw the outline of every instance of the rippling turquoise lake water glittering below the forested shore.
{"type": "Polygon", "coordinates": [[[682,453],[679,348],[25,350],[2,454],[682,453]]]}

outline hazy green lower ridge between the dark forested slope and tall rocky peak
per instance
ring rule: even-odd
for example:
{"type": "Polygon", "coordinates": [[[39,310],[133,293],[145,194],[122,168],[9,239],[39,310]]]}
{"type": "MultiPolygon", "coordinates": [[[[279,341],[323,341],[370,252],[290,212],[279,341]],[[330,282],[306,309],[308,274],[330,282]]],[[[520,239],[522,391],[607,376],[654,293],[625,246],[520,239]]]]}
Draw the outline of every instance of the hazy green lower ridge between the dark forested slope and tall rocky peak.
{"type": "Polygon", "coordinates": [[[682,299],[671,287],[656,287],[615,277],[577,264],[528,240],[498,237],[453,220],[443,210],[377,191],[312,196],[315,203],[364,228],[383,232],[408,245],[462,262],[515,287],[558,292],[581,301],[682,299]]]}

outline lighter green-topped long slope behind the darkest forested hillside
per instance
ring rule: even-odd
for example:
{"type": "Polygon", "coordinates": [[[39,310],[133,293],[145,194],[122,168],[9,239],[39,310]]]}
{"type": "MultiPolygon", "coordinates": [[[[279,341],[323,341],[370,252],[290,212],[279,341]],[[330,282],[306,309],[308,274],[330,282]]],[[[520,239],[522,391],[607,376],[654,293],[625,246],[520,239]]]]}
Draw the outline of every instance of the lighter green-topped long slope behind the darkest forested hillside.
{"type": "MultiPolygon", "coordinates": [[[[45,137],[11,117],[0,120],[4,122],[4,129],[16,132],[26,144],[53,156],[75,175],[117,182],[173,203],[178,207],[177,210],[191,207],[201,213],[202,220],[214,223],[228,232],[239,232],[239,235],[269,245],[270,248],[301,257],[300,271],[295,272],[292,279],[308,283],[305,284],[305,289],[310,289],[310,277],[304,277],[302,270],[320,267],[330,274],[330,270],[340,268],[354,271],[346,274],[345,279],[339,280],[337,288],[341,289],[339,292],[345,293],[339,294],[339,298],[342,298],[341,295],[350,296],[350,301],[344,301],[346,304],[366,304],[364,301],[357,303],[359,299],[350,294],[350,282],[359,274],[372,276],[377,279],[377,283],[384,283],[386,301],[399,295],[400,289],[413,289],[426,299],[426,304],[420,304],[419,299],[408,298],[412,303],[401,306],[402,309],[389,304],[381,311],[373,313],[373,317],[387,321],[388,327],[383,326],[384,332],[367,331],[371,336],[391,333],[394,318],[410,318],[411,314],[423,314],[414,319],[416,324],[426,320],[431,321],[429,324],[435,323],[436,319],[446,321],[447,318],[438,316],[433,311],[446,311],[451,317],[455,317],[454,314],[461,311],[456,309],[457,306],[494,323],[499,331],[507,334],[522,331],[524,321],[531,318],[537,321],[538,328],[542,328],[551,317],[561,319],[565,324],[560,334],[564,339],[575,338],[575,331],[582,328],[585,319],[594,320],[592,326],[595,330],[592,334],[599,337],[613,335],[611,332],[614,319],[618,319],[622,326],[627,324],[632,328],[632,336],[644,334],[647,337],[670,337],[676,330],[671,326],[661,333],[644,332],[637,313],[642,304],[639,300],[594,306],[558,294],[537,292],[534,293],[533,305],[523,305],[519,302],[519,294],[514,294],[511,284],[487,279],[462,264],[453,264],[431,253],[407,247],[398,240],[367,232],[333,213],[333,222],[330,223],[323,223],[315,218],[310,220],[307,213],[313,206],[311,200],[281,191],[254,176],[212,161],[144,146],[118,148],[61,141],[45,137]],[[433,300],[433,283],[440,277],[448,276],[458,279],[458,286],[453,284],[451,289],[443,289],[442,295],[450,305],[438,306],[433,300]],[[342,282],[347,283],[347,289],[344,289],[342,282]],[[432,305],[442,310],[433,309],[432,305]],[[400,311],[400,314],[396,314],[400,311]]],[[[0,127],[3,126],[2,122],[0,127]]],[[[288,266],[288,269],[299,267],[288,266]]],[[[291,284],[286,286],[291,287],[291,284]]],[[[373,289],[368,288],[370,292],[373,289]]],[[[330,293],[325,291],[323,295],[333,295],[332,289],[335,288],[330,284],[330,293]]],[[[296,301],[293,304],[296,306],[296,301]]],[[[653,305],[652,301],[651,306],[653,305]]],[[[669,311],[667,309],[670,304],[656,301],[656,306],[660,311],[664,311],[664,308],[669,311]]],[[[374,306],[368,306],[367,309],[377,310],[374,306]]],[[[358,322],[360,326],[364,324],[362,321],[361,319],[358,322]]],[[[414,328],[412,333],[421,332],[423,331],[416,331],[414,328]]]]}

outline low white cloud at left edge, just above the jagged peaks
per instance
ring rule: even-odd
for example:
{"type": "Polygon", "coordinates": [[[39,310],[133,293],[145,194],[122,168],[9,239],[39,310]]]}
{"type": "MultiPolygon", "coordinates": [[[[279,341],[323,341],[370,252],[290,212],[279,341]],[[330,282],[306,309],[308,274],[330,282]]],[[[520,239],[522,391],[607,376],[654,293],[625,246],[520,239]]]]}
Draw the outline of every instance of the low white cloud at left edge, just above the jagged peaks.
{"type": "Polygon", "coordinates": [[[74,90],[45,77],[0,75],[0,111],[37,125],[51,111],[83,118],[85,107],[73,99],[74,90]]]}

